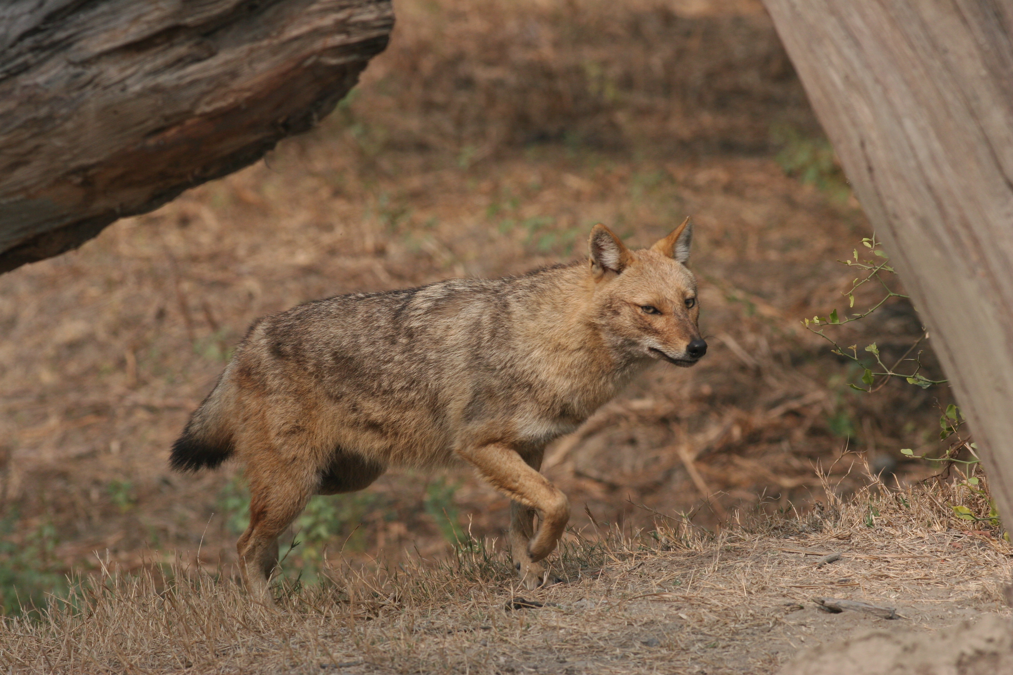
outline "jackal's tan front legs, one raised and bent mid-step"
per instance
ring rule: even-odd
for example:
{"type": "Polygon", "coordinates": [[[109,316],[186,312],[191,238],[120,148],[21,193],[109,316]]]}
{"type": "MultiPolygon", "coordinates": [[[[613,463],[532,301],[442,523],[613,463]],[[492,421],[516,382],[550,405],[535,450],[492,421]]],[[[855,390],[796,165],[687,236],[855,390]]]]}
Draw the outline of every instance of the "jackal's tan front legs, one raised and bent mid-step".
{"type": "Polygon", "coordinates": [[[569,520],[566,495],[505,444],[483,445],[462,454],[492,487],[514,500],[510,528],[514,567],[527,588],[541,586],[546,581],[541,562],[556,547],[569,520]],[[536,513],[537,532],[532,522],[536,513]]]}

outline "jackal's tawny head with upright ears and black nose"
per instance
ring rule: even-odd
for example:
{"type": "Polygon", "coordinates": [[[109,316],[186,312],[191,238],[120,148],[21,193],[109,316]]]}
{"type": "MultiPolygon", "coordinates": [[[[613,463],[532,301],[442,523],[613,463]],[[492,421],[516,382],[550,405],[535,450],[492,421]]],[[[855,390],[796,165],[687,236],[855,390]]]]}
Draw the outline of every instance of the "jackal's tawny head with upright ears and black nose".
{"type": "Polygon", "coordinates": [[[697,321],[696,277],[686,268],[690,219],[648,249],[631,251],[604,225],[591,231],[591,286],[596,322],[630,356],[682,367],[707,353],[697,321]]]}

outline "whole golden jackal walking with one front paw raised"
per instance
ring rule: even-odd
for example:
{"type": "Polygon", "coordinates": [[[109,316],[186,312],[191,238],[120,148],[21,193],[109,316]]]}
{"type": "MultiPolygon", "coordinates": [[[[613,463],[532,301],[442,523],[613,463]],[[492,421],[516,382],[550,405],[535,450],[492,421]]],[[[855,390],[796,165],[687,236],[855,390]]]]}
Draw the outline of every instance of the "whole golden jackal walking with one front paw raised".
{"type": "Polygon", "coordinates": [[[464,459],[513,500],[514,566],[534,588],[569,519],[566,496],[538,473],[545,445],[652,361],[690,366],[707,351],[684,266],[691,238],[686,219],[631,251],[597,225],[589,261],[260,319],[173,444],[172,467],[245,463],[239,565],[269,600],[278,536],[311,495],[362,490],[391,466],[464,459]]]}

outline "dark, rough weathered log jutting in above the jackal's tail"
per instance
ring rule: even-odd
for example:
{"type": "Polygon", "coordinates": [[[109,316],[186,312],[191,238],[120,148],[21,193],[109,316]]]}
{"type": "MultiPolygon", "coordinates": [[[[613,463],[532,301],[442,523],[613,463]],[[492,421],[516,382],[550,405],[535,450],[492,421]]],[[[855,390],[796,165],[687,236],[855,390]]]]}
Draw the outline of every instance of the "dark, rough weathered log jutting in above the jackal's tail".
{"type": "Polygon", "coordinates": [[[393,21],[390,0],[7,0],[0,272],[312,128],[393,21]]]}

